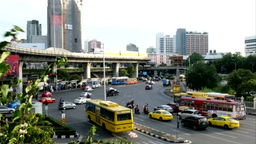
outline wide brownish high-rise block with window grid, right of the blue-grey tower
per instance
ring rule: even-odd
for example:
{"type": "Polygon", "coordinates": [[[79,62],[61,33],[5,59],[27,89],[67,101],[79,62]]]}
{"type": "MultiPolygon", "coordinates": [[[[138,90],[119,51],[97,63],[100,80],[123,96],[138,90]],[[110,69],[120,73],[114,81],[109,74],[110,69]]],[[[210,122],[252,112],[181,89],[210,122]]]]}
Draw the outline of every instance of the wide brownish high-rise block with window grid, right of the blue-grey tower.
{"type": "Polygon", "coordinates": [[[208,53],[208,33],[203,32],[186,32],[186,49],[185,55],[192,53],[207,55],[208,53]]]}

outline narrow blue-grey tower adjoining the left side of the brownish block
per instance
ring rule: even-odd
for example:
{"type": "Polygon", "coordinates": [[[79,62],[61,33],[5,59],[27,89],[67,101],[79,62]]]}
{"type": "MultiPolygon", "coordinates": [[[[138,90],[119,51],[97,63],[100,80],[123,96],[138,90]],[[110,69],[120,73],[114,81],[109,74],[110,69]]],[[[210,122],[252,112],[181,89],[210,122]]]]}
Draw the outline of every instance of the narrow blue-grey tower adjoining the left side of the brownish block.
{"type": "Polygon", "coordinates": [[[186,29],[178,28],[175,35],[176,53],[179,55],[185,55],[186,48],[186,29]]]}

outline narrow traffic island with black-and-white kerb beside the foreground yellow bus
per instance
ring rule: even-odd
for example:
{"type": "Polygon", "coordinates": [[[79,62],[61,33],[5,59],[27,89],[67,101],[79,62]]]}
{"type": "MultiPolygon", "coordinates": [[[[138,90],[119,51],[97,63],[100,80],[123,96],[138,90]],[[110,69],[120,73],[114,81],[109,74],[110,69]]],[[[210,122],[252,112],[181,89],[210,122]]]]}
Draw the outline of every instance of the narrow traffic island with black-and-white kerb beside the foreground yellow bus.
{"type": "Polygon", "coordinates": [[[140,131],[141,133],[156,137],[157,139],[161,139],[167,142],[174,142],[174,143],[188,143],[188,140],[184,140],[181,137],[176,137],[174,135],[166,134],[161,131],[146,127],[144,125],[140,125],[137,123],[133,123],[133,127],[135,130],[140,131]]]}

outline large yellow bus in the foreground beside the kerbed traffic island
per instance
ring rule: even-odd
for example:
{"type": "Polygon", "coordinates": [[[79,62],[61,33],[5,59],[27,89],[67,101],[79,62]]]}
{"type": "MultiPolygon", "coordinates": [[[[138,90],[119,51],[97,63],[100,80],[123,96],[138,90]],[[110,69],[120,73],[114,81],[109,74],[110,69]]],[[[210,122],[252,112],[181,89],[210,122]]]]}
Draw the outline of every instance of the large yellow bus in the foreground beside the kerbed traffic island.
{"type": "Polygon", "coordinates": [[[112,101],[86,101],[85,117],[113,133],[133,130],[132,110],[112,101]]]}

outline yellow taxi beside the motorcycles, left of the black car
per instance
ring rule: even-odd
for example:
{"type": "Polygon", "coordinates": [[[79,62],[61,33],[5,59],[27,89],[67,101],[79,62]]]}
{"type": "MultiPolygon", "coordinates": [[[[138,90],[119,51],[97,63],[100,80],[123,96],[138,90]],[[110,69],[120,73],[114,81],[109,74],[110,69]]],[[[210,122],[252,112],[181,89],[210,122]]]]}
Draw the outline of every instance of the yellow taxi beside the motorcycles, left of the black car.
{"type": "Polygon", "coordinates": [[[148,116],[149,118],[159,119],[161,122],[173,119],[172,113],[166,110],[155,110],[153,112],[149,112],[148,116]]]}

